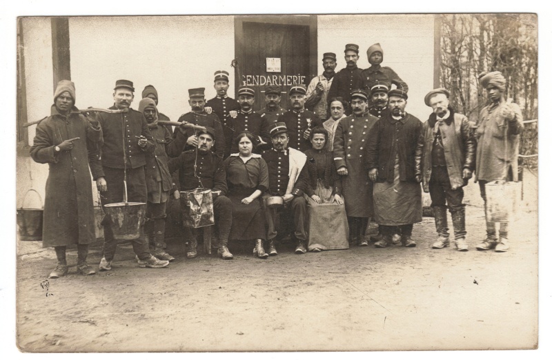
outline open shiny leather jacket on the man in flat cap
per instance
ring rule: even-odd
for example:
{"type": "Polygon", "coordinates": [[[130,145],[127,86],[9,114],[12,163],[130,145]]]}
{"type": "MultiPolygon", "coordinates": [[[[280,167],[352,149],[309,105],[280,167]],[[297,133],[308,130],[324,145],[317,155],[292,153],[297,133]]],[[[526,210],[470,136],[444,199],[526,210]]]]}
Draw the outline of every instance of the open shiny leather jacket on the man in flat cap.
{"type": "MultiPolygon", "coordinates": [[[[429,180],[431,179],[432,151],[435,133],[433,128],[437,122],[437,116],[433,113],[422,126],[420,138],[416,149],[416,174],[422,175],[424,192],[429,192],[429,180]]],[[[468,118],[462,114],[456,114],[451,110],[448,119],[444,119],[439,126],[441,132],[446,171],[449,173],[451,188],[453,190],[466,186],[468,180],[462,179],[462,170],[475,169],[475,137],[471,130],[468,118]]]]}

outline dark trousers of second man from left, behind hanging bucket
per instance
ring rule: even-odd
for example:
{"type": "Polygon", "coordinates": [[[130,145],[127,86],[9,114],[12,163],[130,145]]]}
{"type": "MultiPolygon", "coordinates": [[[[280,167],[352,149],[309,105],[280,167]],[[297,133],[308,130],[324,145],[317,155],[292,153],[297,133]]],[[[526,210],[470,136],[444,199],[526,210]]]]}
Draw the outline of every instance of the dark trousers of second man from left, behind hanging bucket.
{"type": "MultiPolygon", "coordinates": [[[[124,201],[124,169],[103,168],[108,190],[100,192],[101,205],[108,203],[119,203],[124,201]]],[[[148,190],[146,188],[146,176],[144,166],[135,169],[126,170],[126,186],[129,202],[145,203],[148,199],[148,190]]],[[[103,257],[107,261],[112,261],[117,251],[117,240],[113,237],[111,223],[107,217],[101,221],[103,225],[103,257]]],[[[132,240],[132,249],[140,260],[149,259],[151,254],[148,248],[148,241],[144,236],[144,224],[140,227],[140,236],[132,240]]]]}

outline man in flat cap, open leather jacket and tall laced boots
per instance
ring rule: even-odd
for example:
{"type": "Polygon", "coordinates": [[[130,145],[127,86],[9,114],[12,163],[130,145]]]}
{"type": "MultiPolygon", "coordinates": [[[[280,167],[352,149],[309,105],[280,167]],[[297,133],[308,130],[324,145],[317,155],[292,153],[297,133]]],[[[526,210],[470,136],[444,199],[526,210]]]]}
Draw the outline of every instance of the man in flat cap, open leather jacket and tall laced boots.
{"type": "Polygon", "coordinates": [[[438,239],[434,249],[449,246],[446,208],[453,219],[455,245],[467,251],[464,190],[475,168],[475,139],[468,118],[449,106],[449,90],[437,88],[426,94],[433,114],[422,126],[416,150],[416,180],[431,196],[438,239]]]}

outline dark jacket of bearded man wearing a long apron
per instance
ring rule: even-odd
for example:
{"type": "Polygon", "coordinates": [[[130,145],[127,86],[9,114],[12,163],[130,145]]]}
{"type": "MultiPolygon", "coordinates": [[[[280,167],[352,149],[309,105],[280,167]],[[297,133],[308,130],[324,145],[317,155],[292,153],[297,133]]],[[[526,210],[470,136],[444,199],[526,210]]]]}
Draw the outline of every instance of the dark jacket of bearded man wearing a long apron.
{"type": "Polygon", "coordinates": [[[422,121],[411,114],[395,120],[388,114],[378,120],[368,135],[366,166],[377,169],[377,182],[393,182],[395,157],[399,154],[400,181],[416,181],[416,147],[422,121]]]}

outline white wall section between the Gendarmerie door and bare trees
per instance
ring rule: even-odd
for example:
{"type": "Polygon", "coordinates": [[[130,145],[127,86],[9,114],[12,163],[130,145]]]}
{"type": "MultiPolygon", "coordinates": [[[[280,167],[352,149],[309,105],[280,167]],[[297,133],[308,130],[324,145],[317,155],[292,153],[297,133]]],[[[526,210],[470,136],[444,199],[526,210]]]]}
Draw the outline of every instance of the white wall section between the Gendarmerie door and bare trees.
{"type": "Polygon", "coordinates": [[[337,54],[336,71],[346,66],[344,49],[356,43],[357,66],[370,66],[366,50],[380,43],[384,50],[382,66],[395,70],[408,84],[406,111],[426,121],[431,109],[424,103],[425,94],[433,89],[433,15],[362,14],[318,16],[318,73],[322,74],[322,54],[337,54]]]}

